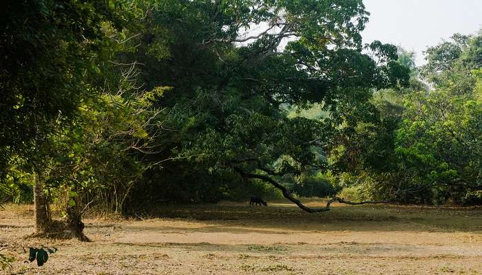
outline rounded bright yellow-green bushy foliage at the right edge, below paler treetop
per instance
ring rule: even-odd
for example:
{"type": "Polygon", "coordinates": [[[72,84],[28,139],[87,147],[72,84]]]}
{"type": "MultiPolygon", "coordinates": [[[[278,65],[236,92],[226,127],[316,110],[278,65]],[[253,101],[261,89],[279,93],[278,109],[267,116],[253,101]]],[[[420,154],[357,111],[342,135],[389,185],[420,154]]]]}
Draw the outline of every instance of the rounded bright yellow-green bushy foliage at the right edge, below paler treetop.
{"type": "Polygon", "coordinates": [[[432,186],[438,203],[448,198],[470,202],[465,195],[481,188],[482,104],[432,91],[414,94],[406,107],[406,120],[397,133],[402,169],[417,184],[432,186]]]}

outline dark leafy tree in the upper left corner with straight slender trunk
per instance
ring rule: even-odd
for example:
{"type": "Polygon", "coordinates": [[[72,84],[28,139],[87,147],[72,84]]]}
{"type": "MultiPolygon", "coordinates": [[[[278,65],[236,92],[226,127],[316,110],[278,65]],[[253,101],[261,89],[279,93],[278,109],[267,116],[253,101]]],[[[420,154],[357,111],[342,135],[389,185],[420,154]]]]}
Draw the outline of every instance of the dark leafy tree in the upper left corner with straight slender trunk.
{"type": "MultiPolygon", "coordinates": [[[[14,155],[29,158],[46,135],[68,124],[92,94],[111,44],[105,26],[132,17],[124,1],[6,1],[0,14],[0,171],[14,155]]],[[[45,229],[41,163],[32,162],[37,231],[45,229]]]]}

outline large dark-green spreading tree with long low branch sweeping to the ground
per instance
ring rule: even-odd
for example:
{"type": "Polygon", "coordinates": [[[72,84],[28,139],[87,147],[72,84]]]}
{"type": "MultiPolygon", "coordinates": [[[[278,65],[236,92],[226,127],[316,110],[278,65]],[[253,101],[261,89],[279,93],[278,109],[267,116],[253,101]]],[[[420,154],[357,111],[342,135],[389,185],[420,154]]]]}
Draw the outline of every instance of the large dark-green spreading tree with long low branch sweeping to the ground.
{"type": "Polygon", "coordinates": [[[178,161],[164,165],[218,179],[262,180],[308,212],[328,210],[304,206],[279,177],[326,170],[323,155],[346,122],[338,116],[341,107],[370,113],[367,91],[408,84],[397,47],[362,45],[359,32],[368,21],[362,1],[146,5],[138,38],[145,45],[126,58],[145,64],[150,87],[173,87],[156,101],[177,129],[167,147],[178,161]],[[254,26],[262,30],[250,32],[254,26]],[[282,109],[315,103],[333,118],[288,118],[282,109]]]}

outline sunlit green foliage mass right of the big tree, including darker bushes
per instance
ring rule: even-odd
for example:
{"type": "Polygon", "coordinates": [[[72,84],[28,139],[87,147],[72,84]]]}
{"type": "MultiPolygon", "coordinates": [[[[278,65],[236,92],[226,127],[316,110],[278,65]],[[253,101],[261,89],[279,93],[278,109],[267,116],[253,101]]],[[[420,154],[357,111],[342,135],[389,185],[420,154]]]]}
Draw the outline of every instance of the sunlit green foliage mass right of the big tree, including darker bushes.
{"type": "Polygon", "coordinates": [[[435,89],[374,94],[379,122],[357,124],[338,158],[357,178],[350,190],[415,203],[482,202],[479,39],[456,34],[428,49],[421,76],[435,89]]]}

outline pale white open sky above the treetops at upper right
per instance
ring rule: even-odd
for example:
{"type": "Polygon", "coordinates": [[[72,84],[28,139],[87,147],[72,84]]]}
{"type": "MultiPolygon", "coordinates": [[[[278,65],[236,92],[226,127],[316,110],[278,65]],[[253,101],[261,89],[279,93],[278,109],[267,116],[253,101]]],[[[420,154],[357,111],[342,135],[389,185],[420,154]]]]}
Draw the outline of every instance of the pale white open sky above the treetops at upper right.
{"type": "Polygon", "coordinates": [[[474,34],[482,28],[482,0],[364,0],[370,21],[362,33],[365,43],[379,40],[401,45],[417,54],[450,39],[454,33],[474,34]]]}

